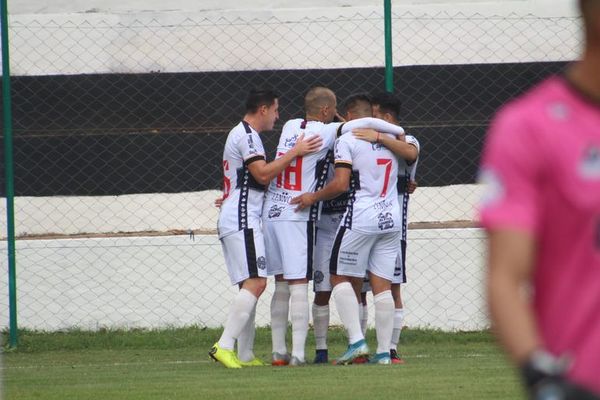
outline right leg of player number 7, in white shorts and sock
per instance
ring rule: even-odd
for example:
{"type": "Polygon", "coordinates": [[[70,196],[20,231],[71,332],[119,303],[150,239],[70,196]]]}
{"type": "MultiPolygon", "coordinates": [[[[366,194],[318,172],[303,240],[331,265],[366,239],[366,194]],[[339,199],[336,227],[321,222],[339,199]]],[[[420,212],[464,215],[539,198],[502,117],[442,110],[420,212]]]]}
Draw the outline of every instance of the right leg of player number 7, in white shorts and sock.
{"type": "Polygon", "coordinates": [[[377,351],[372,361],[380,364],[391,364],[389,349],[394,329],[391,281],[394,276],[395,255],[399,241],[399,232],[378,235],[369,259],[369,278],[373,290],[377,333],[377,351]]]}

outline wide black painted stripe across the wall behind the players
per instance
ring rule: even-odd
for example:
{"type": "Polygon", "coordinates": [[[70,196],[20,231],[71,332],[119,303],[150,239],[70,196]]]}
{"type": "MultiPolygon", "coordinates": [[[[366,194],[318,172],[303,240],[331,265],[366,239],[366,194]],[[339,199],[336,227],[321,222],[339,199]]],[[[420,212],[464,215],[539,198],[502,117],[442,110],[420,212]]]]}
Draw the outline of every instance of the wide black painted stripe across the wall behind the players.
{"type": "MultiPolygon", "coordinates": [[[[564,63],[395,69],[403,122],[419,139],[422,186],[473,183],[494,111],[564,63]]],[[[18,196],[117,195],[219,189],[226,134],[253,86],[281,95],[282,123],[301,116],[306,89],[341,102],[384,87],[381,68],[13,78],[18,196]]],[[[277,133],[263,142],[270,157],[277,133]]],[[[0,191],[4,194],[3,152],[0,191]]]]}

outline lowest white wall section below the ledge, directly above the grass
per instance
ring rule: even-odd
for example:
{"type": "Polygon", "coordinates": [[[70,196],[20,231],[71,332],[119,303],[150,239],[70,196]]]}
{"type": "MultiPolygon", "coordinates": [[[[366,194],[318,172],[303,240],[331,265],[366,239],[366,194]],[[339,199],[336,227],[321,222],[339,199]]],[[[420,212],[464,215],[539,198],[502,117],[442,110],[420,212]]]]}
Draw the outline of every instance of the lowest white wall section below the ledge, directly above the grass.
{"type": "MultiPolygon", "coordinates": [[[[6,271],[6,242],[0,246],[6,271]]],[[[488,326],[481,231],[411,230],[407,259],[407,326],[488,326]]],[[[0,274],[1,310],[8,310],[7,288],[7,275],[0,274]]],[[[259,301],[258,325],[269,323],[272,289],[271,281],[259,301]]],[[[224,323],[235,291],[214,235],[17,242],[21,328],[217,327],[224,323]]],[[[332,324],[339,325],[332,306],[332,324]]],[[[8,324],[8,313],[0,313],[0,327],[8,324]]]]}

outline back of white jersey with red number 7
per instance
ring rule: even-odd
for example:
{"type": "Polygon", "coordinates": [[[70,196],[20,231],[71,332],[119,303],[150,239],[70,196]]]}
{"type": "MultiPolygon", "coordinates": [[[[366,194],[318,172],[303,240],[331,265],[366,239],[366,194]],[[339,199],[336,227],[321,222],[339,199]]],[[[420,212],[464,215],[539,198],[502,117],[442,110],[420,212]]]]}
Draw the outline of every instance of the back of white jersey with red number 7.
{"type": "Polygon", "coordinates": [[[398,160],[378,143],[342,135],[336,143],[336,168],[350,163],[352,176],[348,207],[342,224],[363,233],[401,229],[398,206],[398,160]]]}

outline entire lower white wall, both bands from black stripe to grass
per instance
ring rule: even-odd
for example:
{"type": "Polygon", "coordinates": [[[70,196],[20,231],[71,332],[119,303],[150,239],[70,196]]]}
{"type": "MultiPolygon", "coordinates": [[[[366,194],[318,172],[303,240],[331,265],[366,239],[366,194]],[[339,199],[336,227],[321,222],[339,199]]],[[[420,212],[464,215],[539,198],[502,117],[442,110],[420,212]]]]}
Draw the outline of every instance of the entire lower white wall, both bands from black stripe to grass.
{"type": "MultiPolygon", "coordinates": [[[[471,221],[482,187],[419,188],[411,222],[471,221]]],[[[208,231],[159,237],[17,240],[19,324],[69,327],[220,326],[235,288],[214,235],[217,191],[102,197],[17,197],[17,235],[208,231]]],[[[4,204],[3,204],[4,206],[4,204]]],[[[0,218],[6,212],[0,209],[0,218]]],[[[5,220],[1,221],[5,224],[5,220]]],[[[6,242],[0,244],[7,271],[6,242]]],[[[407,324],[440,329],[487,326],[482,304],[482,233],[409,230],[407,324]]],[[[8,309],[0,274],[0,310],[8,309]]],[[[269,299],[271,289],[265,299],[269,299]]],[[[268,324],[268,300],[258,323],[268,324]]],[[[339,323],[334,312],[334,323],[339,323]]],[[[0,313],[0,327],[8,313],[0,313]]]]}

